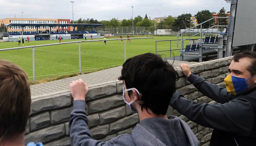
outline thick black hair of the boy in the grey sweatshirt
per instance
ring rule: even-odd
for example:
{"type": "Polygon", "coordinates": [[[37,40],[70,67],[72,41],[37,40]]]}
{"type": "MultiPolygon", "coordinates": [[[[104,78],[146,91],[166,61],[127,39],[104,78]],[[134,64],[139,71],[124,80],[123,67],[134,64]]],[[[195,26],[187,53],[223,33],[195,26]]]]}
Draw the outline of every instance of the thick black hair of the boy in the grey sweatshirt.
{"type": "MultiPolygon", "coordinates": [[[[179,74],[160,55],[146,53],[129,58],[123,64],[119,80],[125,80],[126,88],[136,88],[143,101],[141,110],[148,108],[153,113],[165,115],[179,74]]],[[[130,96],[131,91],[128,91],[130,96]]]]}

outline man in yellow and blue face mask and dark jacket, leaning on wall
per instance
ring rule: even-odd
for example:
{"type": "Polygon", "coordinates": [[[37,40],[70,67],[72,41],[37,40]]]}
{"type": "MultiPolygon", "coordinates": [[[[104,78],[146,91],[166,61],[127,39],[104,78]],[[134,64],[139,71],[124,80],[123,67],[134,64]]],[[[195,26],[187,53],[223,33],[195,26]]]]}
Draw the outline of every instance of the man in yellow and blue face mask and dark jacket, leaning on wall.
{"type": "Polygon", "coordinates": [[[249,146],[256,143],[256,53],[235,54],[224,79],[226,88],[207,82],[180,64],[183,74],[198,91],[217,103],[196,103],[180,93],[172,95],[170,105],[204,127],[214,128],[210,146],[249,146]]]}

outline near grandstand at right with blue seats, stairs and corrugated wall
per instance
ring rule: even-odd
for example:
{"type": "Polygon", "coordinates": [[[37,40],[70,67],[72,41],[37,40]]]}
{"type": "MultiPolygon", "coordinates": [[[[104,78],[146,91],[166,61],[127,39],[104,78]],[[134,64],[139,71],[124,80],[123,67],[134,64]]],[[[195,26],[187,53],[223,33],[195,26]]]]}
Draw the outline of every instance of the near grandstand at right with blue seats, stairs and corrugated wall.
{"type": "MultiPolygon", "coordinates": [[[[214,25],[208,29],[202,29],[202,24],[216,18],[224,17],[213,17],[198,26],[190,29],[181,30],[177,33],[177,46],[181,44],[180,59],[181,61],[197,60],[202,62],[203,59],[209,59],[212,57],[223,58],[231,56],[236,52],[243,50],[253,51],[256,46],[256,36],[254,31],[256,28],[256,22],[254,21],[256,16],[247,16],[244,13],[256,12],[255,9],[250,9],[252,4],[256,4],[254,0],[242,1],[242,0],[225,0],[231,3],[230,17],[228,26],[214,25]],[[252,18],[253,17],[253,18],[252,18]],[[201,29],[194,29],[201,27],[201,29]],[[226,27],[225,33],[220,33],[215,27],[226,27]],[[253,27],[253,28],[251,28],[253,27]],[[251,28],[251,29],[248,29],[251,28]],[[183,35],[186,33],[195,33],[193,36],[200,34],[199,43],[187,44],[184,50],[184,41],[191,37],[183,39],[183,35]],[[216,35],[206,36],[202,39],[205,33],[217,33],[216,35]],[[179,35],[181,35],[181,43],[179,43],[179,35]]],[[[226,17],[225,17],[226,18],[226,17]]],[[[177,59],[177,57],[176,57],[177,59]]]]}

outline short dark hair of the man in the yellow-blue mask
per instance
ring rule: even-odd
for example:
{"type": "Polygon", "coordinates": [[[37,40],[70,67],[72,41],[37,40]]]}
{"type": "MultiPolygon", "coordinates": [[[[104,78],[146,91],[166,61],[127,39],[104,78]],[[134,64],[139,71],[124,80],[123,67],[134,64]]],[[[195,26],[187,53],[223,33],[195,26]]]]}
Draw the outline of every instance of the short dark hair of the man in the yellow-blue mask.
{"type": "Polygon", "coordinates": [[[255,75],[256,74],[256,52],[244,51],[241,53],[236,53],[232,60],[234,60],[234,62],[239,62],[241,58],[251,59],[252,64],[247,67],[247,70],[251,73],[252,76],[255,75]]]}

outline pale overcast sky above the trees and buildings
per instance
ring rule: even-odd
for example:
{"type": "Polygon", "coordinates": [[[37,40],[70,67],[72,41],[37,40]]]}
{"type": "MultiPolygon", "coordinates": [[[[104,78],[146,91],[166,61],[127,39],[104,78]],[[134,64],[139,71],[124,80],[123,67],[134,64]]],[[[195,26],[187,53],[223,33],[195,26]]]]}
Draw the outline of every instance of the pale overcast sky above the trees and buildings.
{"type": "MultiPolygon", "coordinates": [[[[147,13],[151,19],[161,16],[178,16],[182,13],[195,15],[198,11],[218,12],[222,7],[230,11],[230,4],[224,0],[73,0],[74,19],[130,18],[147,13]]],[[[71,19],[70,0],[0,0],[2,18],[53,18],[71,19]]]]}

